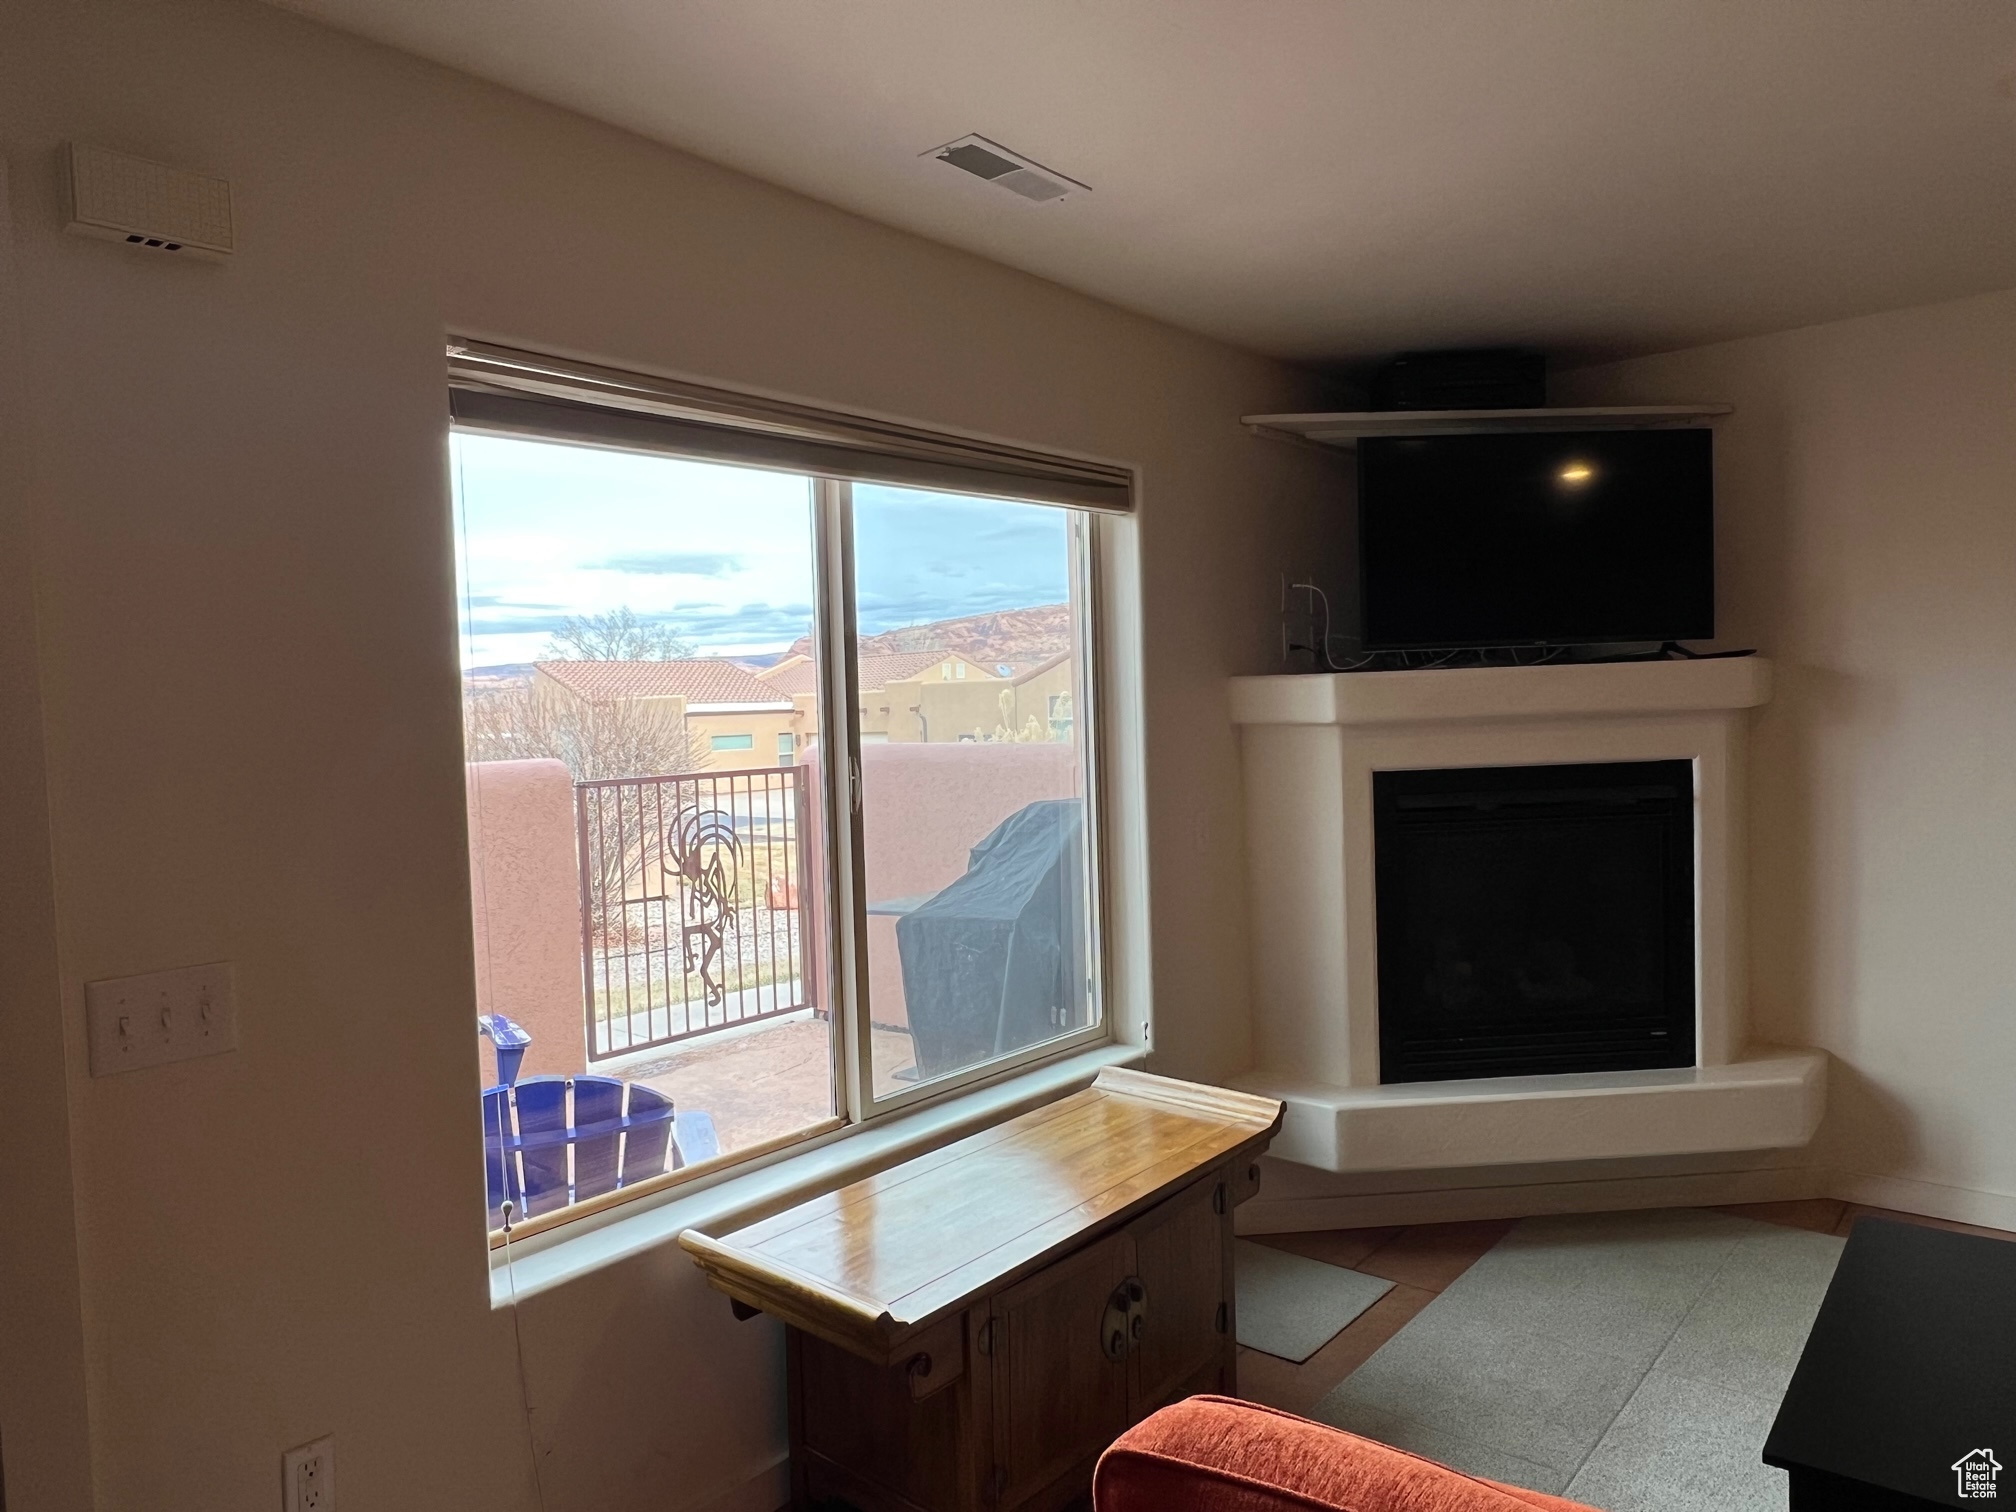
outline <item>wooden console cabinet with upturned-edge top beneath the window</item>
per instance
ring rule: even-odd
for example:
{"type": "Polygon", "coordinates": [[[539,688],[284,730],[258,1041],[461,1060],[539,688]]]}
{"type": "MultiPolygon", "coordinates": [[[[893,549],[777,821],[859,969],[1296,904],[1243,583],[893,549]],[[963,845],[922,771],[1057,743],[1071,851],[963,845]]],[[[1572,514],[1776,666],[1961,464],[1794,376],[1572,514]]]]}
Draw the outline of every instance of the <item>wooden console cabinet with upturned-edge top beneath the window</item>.
{"type": "Polygon", "coordinates": [[[1048,1512],[1129,1423],[1234,1389],[1232,1210],[1282,1105],[1101,1070],[1083,1093],[720,1238],[788,1325],[800,1508],[1048,1512]]]}

